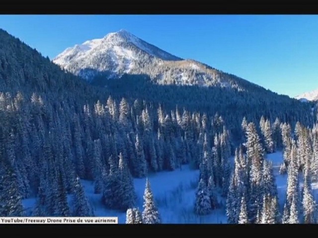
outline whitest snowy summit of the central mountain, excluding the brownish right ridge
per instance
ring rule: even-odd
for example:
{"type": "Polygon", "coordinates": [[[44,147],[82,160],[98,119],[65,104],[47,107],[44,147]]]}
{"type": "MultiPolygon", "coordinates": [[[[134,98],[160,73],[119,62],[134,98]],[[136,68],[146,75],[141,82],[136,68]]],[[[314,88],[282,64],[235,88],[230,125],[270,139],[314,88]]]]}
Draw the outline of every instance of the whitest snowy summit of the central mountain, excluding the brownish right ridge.
{"type": "Polygon", "coordinates": [[[85,41],[66,49],[53,61],[64,69],[90,80],[94,74],[111,72],[109,77],[133,73],[153,61],[182,60],[133,34],[120,30],[101,39],[85,41]]]}

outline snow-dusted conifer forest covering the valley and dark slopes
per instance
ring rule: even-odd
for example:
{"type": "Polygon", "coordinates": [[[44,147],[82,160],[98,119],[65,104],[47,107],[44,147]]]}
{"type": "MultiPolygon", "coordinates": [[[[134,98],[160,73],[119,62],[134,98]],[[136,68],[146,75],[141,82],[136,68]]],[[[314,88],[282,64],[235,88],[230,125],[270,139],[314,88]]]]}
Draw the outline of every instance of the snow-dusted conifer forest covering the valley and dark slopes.
{"type": "Polygon", "coordinates": [[[1,217],[24,216],[30,197],[32,216],[94,216],[86,179],[105,208],[127,212],[126,223],[160,223],[150,181],[140,211],[133,179],[185,164],[200,174],[195,214],[222,206],[221,195],[228,223],[317,222],[315,104],[265,89],[156,85],[142,75],[91,85],[0,30],[1,217]],[[284,207],[264,159],[277,150],[288,175],[284,207]]]}

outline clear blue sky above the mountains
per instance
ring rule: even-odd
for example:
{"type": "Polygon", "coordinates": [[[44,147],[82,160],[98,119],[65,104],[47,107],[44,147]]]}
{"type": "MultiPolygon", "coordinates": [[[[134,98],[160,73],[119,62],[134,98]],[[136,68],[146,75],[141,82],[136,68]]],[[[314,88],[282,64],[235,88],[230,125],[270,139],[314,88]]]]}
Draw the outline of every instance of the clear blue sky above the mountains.
{"type": "Polygon", "coordinates": [[[0,28],[50,59],[125,29],[281,94],[318,88],[317,15],[0,15],[0,28]]]}

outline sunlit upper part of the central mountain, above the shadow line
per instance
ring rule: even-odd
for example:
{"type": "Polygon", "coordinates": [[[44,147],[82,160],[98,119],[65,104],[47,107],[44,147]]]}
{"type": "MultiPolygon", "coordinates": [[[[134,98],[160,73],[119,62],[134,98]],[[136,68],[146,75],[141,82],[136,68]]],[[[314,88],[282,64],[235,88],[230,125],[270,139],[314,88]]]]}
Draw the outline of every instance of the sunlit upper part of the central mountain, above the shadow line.
{"type": "Polygon", "coordinates": [[[240,90],[252,85],[253,89],[260,88],[206,64],[173,56],[125,30],[68,48],[53,62],[88,81],[93,81],[97,75],[106,79],[128,73],[146,74],[153,82],[164,85],[220,86],[240,90]]]}

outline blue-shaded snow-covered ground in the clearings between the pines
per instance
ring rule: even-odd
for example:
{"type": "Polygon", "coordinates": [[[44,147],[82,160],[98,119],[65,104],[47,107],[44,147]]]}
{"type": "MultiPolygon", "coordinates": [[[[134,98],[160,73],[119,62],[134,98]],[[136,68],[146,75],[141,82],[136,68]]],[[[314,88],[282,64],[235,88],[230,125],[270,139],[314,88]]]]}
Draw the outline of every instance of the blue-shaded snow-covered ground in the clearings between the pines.
{"type": "MultiPolygon", "coordinates": [[[[278,188],[279,204],[282,209],[287,188],[287,175],[279,174],[279,167],[283,161],[282,152],[268,154],[267,160],[273,163],[274,174],[276,175],[276,184],[278,188]]],[[[173,172],[160,172],[149,175],[151,188],[156,199],[162,223],[174,224],[220,224],[227,223],[225,208],[213,211],[207,216],[197,216],[193,212],[195,201],[195,192],[198,185],[199,171],[191,170],[188,165],[182,166],[182,170],[177,169],[173,172]]],[[[119,223],[125,223],[126,213],[106,209],[101,203],[101,194],[94,194],[94,185],[92,181],[82,180],[85,193],[94,209],[95,216],[116,216],[119,223]]],[[[146,179],[134,179],[135,190],[137,193],[137,207],[143,210],[143,195],[146,179]]],[[[301,183],[302,185],[302,183],[301,183]]],[[[318,182],[312,183],[313,193],[318,201],[318,182]]],[[[70,200],[71,196],[69,196],[70,200]]],[[[226,204],[224,198],[219,197],[219,202],[226,204]]],[[[23,205],[28,213],[34,207],[35,199],[29,198],[23,200],[23,205]]],[[[225,207],[225,206],[223,206],[225,207]]]]}

